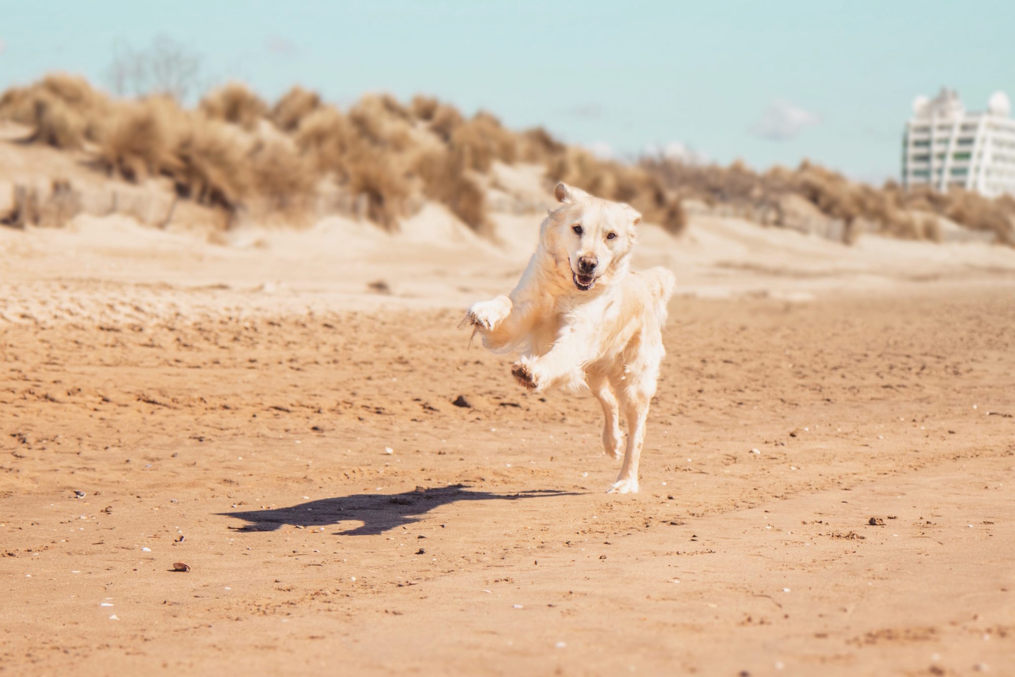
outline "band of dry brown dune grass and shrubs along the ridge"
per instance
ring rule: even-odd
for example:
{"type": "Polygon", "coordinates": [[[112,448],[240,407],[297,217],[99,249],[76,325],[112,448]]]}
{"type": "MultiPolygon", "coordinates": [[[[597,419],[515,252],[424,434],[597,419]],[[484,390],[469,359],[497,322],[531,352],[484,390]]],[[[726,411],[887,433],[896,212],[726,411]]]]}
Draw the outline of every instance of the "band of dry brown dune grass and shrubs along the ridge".
{"type": "Polygon", "coordinates": [[[1015,200],[954,190],[878,189],[803,163],[753,172],[646,158],[603,160],[545,130],[515,132],[488,113],[466,118],[434,98],[404,104],[369,94],[346,111],[298,86],[274,104],[243,84],[213,89],[192,109],[174,96],[113,98],[80,77],[52,74],[0,96],[0,118],[30,128],[28,140],[85,154],[96,171],[128,182],[172,183],[180,199],[227,213],[286,219],[354,213],[388,229],[425,200],[441,202],[479,232],[489,229],[486,188],[494,161],[545,167],[565,181],[628,202],[647,221],[679,232],[693,199],[789,227],[801,208],[864,230],[936,240],[936,216],[1015,243],[1015,200]]]}

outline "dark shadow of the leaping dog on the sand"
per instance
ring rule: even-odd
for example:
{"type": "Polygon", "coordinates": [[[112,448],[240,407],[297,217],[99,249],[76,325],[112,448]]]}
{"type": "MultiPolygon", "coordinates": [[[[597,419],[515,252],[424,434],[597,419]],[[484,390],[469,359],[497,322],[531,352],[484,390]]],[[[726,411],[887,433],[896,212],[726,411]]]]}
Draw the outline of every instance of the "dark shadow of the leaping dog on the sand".
{"type": "Polygon", "coordinates": [[[342,522],[361,522],[355,529],[336,532],[337,536],[368,536],[419,522],[434,507],[462,500],[522,500],[574,496],[573,491],[534,490],[517,493],[471,491],[464,484],[436,488],[416,487],[404,493],[356,493],[311,500],[289,507],[273,507],[239,513],[219,513],[247,522],[236,531],[275,531],[284,525],[328,527],[342,522]]]}

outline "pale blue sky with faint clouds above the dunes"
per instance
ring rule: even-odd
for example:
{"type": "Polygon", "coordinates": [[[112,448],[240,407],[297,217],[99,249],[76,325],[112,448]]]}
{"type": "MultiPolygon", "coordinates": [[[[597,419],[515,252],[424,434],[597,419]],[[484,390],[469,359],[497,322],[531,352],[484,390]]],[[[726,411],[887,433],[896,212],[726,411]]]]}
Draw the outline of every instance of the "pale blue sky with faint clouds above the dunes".
{"type": "Polygon", "coordinates": [[[1015,2],[25,2],[0,0],[0,89],[106,84],[113,46],[164,35],[209,81],[435,94],[627,155],[686,144],[755,167],[898,171],[916,94],[1015,94],[1015,2]]]}

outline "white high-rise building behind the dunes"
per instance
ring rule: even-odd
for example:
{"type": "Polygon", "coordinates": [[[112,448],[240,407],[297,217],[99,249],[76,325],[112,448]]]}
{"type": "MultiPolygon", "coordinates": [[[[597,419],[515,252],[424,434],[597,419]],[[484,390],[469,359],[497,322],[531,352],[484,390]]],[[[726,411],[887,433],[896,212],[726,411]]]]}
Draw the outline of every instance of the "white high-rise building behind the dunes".
{"type": "Polygon", "coordinates": [[[905,124],[902,186],[958,186],[987,197],[1015,195],[1015,120],[1003,91],[983,113],[968,113],[958,94],[917,96],[905,124]]]}

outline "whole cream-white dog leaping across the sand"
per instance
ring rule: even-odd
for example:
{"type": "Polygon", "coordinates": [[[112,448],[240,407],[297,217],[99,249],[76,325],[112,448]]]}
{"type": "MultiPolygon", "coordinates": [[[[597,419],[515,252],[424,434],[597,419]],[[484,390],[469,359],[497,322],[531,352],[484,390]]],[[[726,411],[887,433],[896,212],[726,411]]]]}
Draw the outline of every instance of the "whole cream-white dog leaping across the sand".
{"type": "Polygon", "coordinates": [[[471,325],[490,350],[521,352],[512,374],[526,388],[588,387],[603,405],[606,453],[618,459],[624,449],[609,491],[635,492],[675,280],[665,268],[630,270],[641,218],[630,205],[566,184],[554,195],[561,206],[543,221],[518,286],[509,296],[473,303],[462,326],[471,325]]]}

